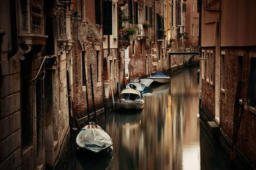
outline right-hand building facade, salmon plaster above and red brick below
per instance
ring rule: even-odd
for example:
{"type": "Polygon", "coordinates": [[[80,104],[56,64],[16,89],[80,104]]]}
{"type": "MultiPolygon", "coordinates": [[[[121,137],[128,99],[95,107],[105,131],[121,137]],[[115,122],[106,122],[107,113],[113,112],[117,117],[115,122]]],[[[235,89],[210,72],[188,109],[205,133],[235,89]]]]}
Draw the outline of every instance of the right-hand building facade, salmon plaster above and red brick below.
{"type": "MultiPolygon", "coordinates": [[[[221,0],[201,2],[200,99],[204,121],[214,120],[225,141],[233,138],[234,101],[238,81],[243,81],[239,107],[244,107],[238,133],[238,157],[256,167],[254,133],[256,2],[221,0]],[[250,16],[250,17],[248,17],[250,16]]],[[[201,119],[201,115],[200,115],[201,119]]]]}

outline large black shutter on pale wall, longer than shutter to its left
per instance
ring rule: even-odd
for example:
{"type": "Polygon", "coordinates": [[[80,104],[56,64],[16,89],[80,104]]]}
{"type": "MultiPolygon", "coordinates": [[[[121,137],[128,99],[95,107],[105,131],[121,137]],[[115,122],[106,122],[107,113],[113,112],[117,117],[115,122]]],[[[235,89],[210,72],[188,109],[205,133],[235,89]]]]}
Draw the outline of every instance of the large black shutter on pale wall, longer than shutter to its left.
{"type": "Polygon", "coordinates": [[[112,0],[104,0],[103,34],[112,35],[112,0]]]}

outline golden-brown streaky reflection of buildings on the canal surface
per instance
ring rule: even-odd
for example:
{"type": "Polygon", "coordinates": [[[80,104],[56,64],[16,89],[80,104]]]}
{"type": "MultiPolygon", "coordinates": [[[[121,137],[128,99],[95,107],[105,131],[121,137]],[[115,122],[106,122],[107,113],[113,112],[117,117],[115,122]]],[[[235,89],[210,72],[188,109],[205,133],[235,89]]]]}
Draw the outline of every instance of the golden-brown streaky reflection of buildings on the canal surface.
{"type": "Polygon", "coordinates": [[[115,121],[108,123],[106,130],[114,147],[109,169],[200,167],[198,93],[195,93],[198,84],[191,74],[184,70],[172,77],[171,86],[153,87],[153,92],[145,95],[140,122],[118,123],[115,117],[115,121]],[[189,161],[193,162],[186,163],[189,161]]]}

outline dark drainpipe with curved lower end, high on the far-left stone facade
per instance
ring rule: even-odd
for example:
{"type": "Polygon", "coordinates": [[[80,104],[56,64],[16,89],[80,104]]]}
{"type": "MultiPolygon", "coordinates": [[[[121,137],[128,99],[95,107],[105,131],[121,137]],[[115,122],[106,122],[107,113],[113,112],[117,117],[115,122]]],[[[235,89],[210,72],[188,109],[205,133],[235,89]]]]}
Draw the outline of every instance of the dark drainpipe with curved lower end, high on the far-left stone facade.
{"type": "Polygon", "coordinates": [[[16,2],[10,0],[10,13],[11,13],[11,34],[12,34],[12,50],[8,51],[8,60],[13,57],[18,51],[18,36],[17,36],[17,23],[16,23],[16,2]]]}

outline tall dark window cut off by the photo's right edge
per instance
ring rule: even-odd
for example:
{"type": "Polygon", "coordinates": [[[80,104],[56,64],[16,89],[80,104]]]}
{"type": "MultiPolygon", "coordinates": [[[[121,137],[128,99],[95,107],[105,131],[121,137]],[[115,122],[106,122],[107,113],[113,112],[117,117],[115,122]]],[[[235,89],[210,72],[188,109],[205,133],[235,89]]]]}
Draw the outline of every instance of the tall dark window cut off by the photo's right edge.
{"type": "Polygon", "coordinates": [[[248,105],[256,105],[256,58],[250,57],[250,81],[249,81],[248,105]]]}

